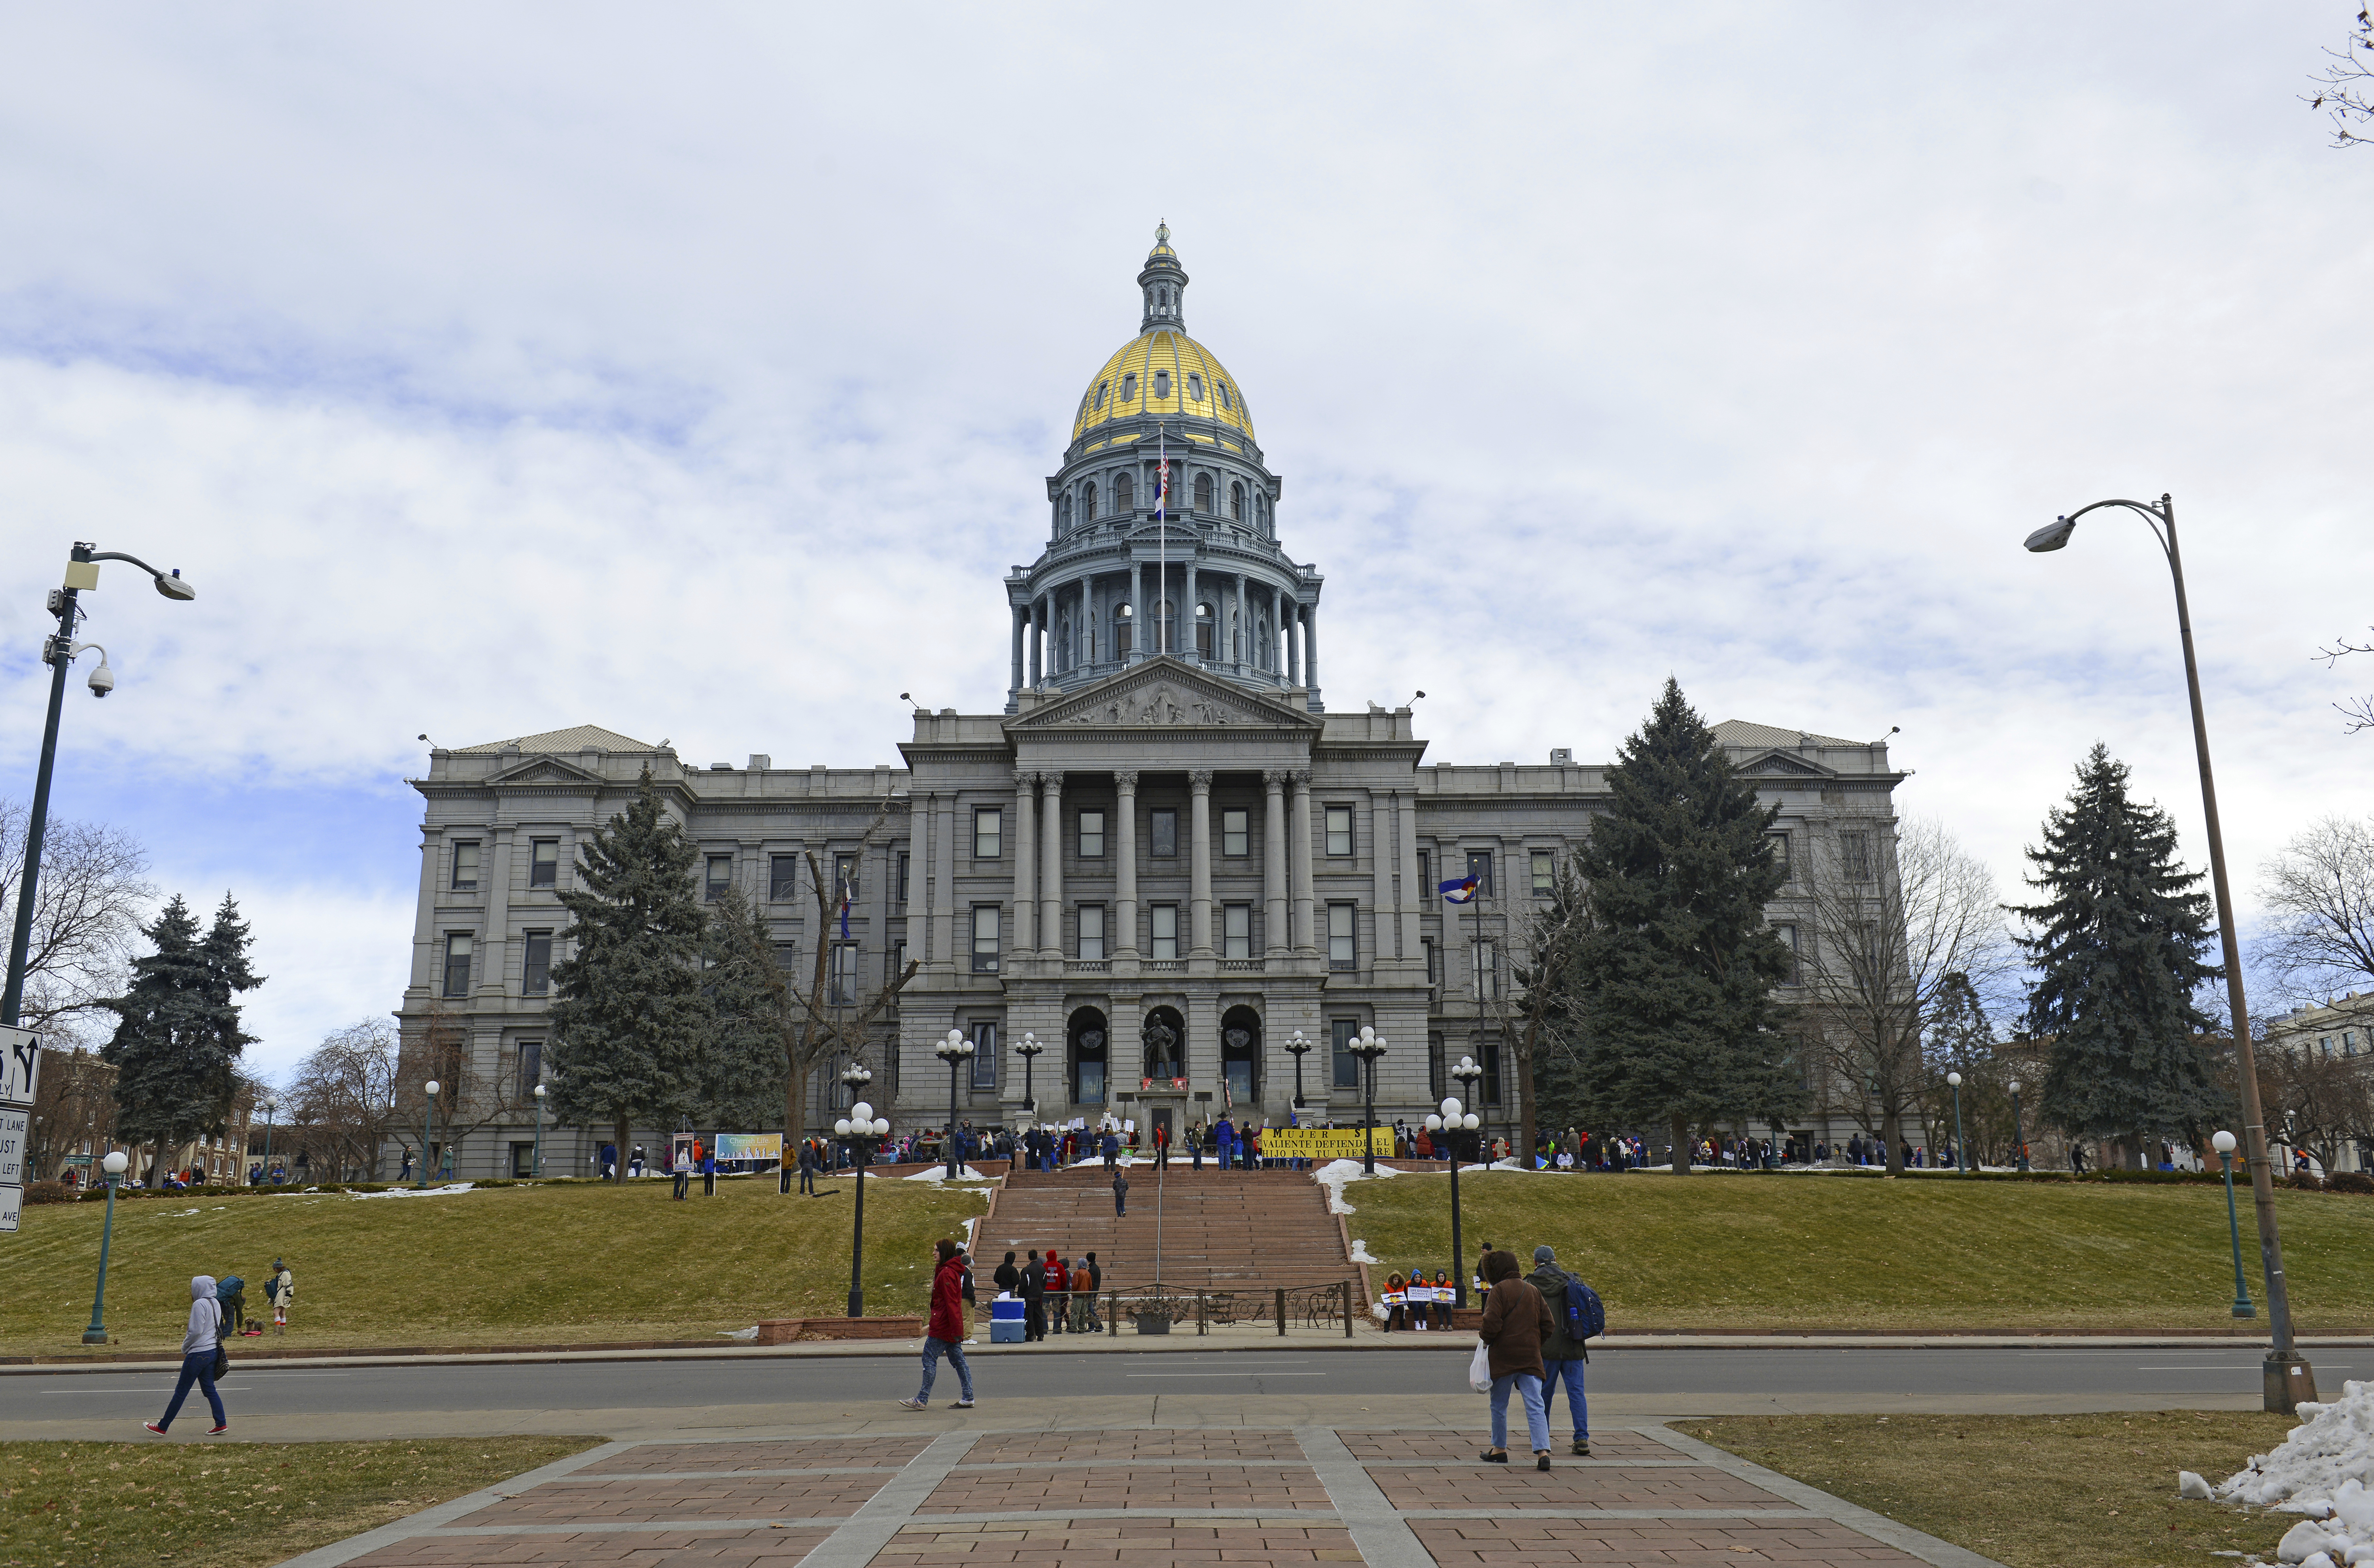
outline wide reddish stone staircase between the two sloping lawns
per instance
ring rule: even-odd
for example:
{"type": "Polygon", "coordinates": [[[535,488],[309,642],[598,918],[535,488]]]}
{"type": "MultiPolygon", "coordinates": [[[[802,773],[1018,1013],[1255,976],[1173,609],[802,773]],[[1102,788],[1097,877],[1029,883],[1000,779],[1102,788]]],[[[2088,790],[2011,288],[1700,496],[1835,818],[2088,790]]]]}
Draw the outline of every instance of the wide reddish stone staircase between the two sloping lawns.
{"type": "MultiPolygon", "coordinates": [[[[1173,1160],[1130,1165],[1130,1212],[1113,1217],[1102,1165],[1061,1172],[1016,1169],[976,1236],[976,1271],[988,1283],[997,1260],[1054,1248],[1066,1262],[1094,1253],[1106,1290],[1154,1283],[1154,1222],[1161,1207],[1161,1283],[1175,1290],[1287,1290],[1358,1281],[1327,1191],[1291,1169],[1201,1172],[1173,1160]]],[[[1026,1262],[1023,1257],[1014,1260],[1026,1262]]],[[[1358,1286],[1356,1286],[1358,1288],[1358,1286]]]]}

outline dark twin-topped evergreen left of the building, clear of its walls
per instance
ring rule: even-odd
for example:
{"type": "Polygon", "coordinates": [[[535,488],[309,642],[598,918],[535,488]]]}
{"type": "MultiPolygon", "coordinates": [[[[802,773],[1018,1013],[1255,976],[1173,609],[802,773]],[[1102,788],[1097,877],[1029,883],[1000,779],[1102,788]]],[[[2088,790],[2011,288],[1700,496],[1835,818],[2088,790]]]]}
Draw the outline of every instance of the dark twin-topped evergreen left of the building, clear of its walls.
{"type": "Polygon", "coordinates": [[[133,958],[131,989],[104,1003],[119,1022],[100,1058],[116,1067],[119,1132],[152,1143],[150,1169],[161,1177],[176,1148],[230,1120],[240,1051],[254,1044],[237,996],[264,977],[247,963],[249,932],[230,894],[204,937],[178,894],[140,932],[157,951],[133,958]]]}

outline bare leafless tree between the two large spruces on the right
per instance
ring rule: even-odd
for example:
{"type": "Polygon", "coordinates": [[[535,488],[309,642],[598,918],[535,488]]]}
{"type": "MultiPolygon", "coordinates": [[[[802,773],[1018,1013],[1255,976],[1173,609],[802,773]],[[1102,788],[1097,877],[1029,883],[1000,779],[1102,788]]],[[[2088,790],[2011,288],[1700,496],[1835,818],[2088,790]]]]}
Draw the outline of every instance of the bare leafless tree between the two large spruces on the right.
{"type": "Polygon", "coordinates": [[[1932,1072],[1928,1018],[1949,987],[1987,996],[2011,973],[1994,875],[1930,818],[1892,844],[1809,844],[1811,935],[1799,939],[1804,1046],[1845,1105],[1880,1136],[1887,1172],[1904,1169],[1904,1120],[1918,1117],[1932,1072]]]}

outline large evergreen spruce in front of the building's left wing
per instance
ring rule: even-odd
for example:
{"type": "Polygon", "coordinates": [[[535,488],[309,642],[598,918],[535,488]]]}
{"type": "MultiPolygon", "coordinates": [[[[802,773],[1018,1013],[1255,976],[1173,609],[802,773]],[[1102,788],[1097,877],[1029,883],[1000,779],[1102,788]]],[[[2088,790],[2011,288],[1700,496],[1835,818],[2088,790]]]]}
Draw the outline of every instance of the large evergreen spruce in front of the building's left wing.
{"type": "Polygon", "coordinates": [[[684,1115],[700,1089],[712,1013],[698,859],[643,769],[627,809],[582,844],[577,887],[560,894],[575,951],[553,965],[553,1117],[608,1127],[620,1174],[634,1120],[684,1115]]]}

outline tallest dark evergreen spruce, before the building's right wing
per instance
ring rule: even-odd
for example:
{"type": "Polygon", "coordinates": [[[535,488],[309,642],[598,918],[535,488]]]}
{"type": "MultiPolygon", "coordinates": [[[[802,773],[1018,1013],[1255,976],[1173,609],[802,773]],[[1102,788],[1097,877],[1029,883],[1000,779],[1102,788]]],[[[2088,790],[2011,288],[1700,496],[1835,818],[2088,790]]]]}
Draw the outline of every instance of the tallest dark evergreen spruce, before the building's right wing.
{"type": "Polygon", "coordinates": [[[1788,1115],[1804,1089],[1776,1032],[1788,949],[1764,923],[1785,880],[1759,807],[1676,681],[1607,771],[1610,809],[1576,856],[1591,932],[1576,954],[1581,1101],[1674,1141],[1716,1120],[1788,1115]]]}

